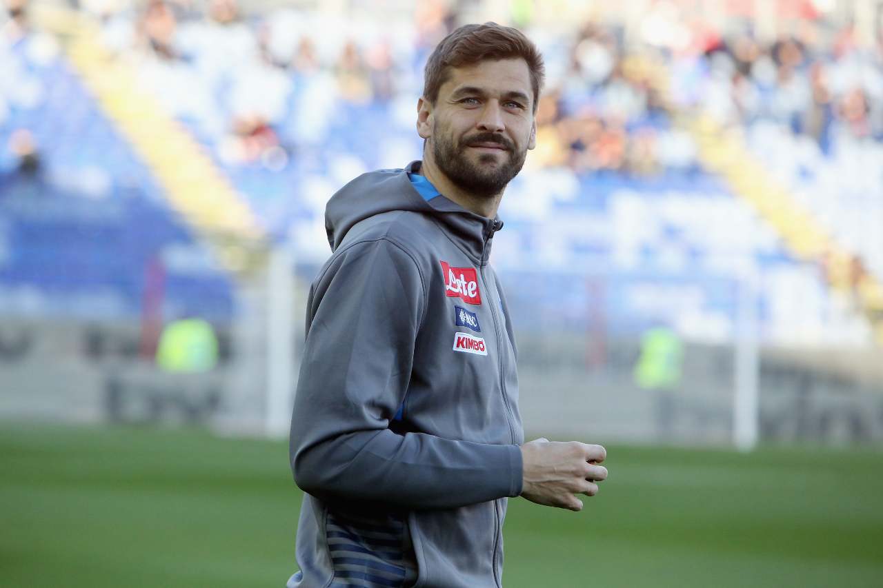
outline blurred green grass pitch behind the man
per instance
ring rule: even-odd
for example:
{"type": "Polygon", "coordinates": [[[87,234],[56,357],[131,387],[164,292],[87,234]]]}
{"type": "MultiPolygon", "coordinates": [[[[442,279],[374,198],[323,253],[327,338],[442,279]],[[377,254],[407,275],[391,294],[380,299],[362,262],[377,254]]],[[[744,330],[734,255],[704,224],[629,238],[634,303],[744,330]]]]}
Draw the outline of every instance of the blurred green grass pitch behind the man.
{"type": "MultiPolygon", "coordinates": [[[[301,494],[281,442],[0,425],[0,585],[283,586],[301,494]]],[[[883,453],[608,447],[581,513],[509,501],[530,586],[883,585],[883,453]]]]}

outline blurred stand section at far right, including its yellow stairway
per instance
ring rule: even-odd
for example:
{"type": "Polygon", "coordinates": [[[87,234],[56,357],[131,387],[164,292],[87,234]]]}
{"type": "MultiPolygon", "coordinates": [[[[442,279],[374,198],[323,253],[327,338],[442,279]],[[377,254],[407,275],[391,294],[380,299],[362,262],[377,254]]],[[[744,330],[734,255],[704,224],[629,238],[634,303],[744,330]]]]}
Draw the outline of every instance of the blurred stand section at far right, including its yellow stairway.
{"type": "Polygon", "coordinates": [[[792,251],[819,262],[880,336],[883,52],[858,36],[854,24],[810,20],[767,43],[711,37],[677,60],[674,93],[708,115],[694,124],[700,142],[730,152],[706,165],[730,177],[792,251]],[[732,126],[742,128],[736,148],[732,135],[717,137],[732,126]]]}

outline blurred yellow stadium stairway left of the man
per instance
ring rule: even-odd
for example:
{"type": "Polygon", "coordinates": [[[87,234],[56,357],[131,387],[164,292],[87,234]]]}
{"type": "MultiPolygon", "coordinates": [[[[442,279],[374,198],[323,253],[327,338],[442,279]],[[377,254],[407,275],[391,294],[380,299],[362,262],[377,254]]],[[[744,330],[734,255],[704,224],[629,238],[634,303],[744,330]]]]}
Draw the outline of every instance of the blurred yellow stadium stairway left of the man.
{"type": "Polygon", "coordinates": [[[62,39],[83,83],[153,171],[170,206],[223,267],[237,275],[262,265],[266,231],[245,198],[190,132],[140,91],[132,68],[102,47],[94,20],[50,6],[35,11],[35,17],[62,39]]]}

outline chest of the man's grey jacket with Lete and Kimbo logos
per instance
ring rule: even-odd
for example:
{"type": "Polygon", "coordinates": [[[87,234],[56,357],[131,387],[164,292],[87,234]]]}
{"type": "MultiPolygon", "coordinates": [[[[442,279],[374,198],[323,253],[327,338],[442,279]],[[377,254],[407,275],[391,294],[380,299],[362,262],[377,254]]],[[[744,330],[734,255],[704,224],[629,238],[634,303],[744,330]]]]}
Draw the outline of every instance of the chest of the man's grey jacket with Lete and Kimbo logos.
{"type": "Polygon", "coordinates": [[[421,430],[449,438],[516,442],[515,340],[493,269],[447,256],[427,264],[408,403],[421,430]]]}

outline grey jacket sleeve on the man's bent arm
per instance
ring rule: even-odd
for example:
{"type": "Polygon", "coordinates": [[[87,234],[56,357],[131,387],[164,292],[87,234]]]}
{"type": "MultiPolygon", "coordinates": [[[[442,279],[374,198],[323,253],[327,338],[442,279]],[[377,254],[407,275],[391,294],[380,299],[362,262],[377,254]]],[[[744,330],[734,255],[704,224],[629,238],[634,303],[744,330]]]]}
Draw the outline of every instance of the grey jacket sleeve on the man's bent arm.
{"type": "Polygon", "coordinates": [[[291,417],[291,469],[305,492],[408,509],[521,494],[516,445],[389,430],[425,311],[416,261],[387,239],[338,252],[314,285],[291,417]]]}

